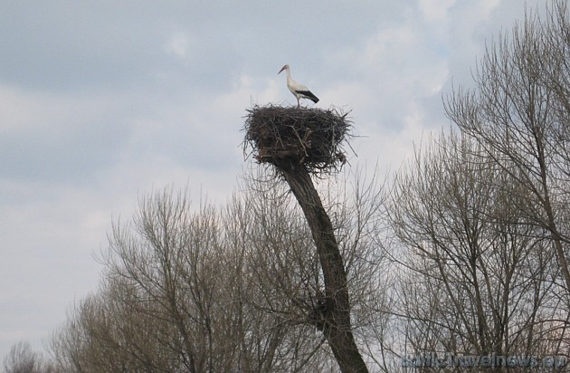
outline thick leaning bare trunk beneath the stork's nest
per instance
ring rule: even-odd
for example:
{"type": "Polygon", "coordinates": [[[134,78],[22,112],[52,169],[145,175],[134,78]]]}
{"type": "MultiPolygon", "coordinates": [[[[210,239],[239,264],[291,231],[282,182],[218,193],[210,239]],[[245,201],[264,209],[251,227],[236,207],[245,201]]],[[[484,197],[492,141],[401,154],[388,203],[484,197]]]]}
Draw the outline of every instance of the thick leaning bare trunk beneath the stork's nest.
{"type": "Polygon", "coordinates": [[[276,165],[289,183],[309,223],[325,282],[325,299],[315,320],[343,372],[367,372],[350,325],[347,273],[330,218],[307,169],[289,162],[276,165]]]}

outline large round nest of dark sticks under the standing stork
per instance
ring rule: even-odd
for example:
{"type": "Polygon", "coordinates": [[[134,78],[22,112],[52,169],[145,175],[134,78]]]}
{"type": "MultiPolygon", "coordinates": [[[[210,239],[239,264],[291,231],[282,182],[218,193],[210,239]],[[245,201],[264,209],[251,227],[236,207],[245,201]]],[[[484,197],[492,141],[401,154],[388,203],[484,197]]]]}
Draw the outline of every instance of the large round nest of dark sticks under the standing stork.
{"type": "Polygon", "coordinates": [[[243,150],[260,163],[303,165],[313,174],[340,169],[352,122],[337,109],[255,106],[247,110],[243,150]]]}

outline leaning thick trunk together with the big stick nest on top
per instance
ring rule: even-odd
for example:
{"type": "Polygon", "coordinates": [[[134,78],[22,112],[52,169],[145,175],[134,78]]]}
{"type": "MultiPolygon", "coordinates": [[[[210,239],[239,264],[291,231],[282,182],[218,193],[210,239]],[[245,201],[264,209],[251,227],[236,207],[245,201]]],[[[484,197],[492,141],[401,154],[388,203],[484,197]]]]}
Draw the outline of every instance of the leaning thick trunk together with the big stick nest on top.
{"type": "Polygon", "coordinates": [[[337,171],[346,162],[347,114],[335,110],[255,107],[245,121],[245,149],[260,163],[270,163],[297,198],[318,250],[325,282],[324,304],[315,325],[323,332],[343,372],[367,372],[350,324],[345,264],[333,225],[311,174],[337,171]]]}

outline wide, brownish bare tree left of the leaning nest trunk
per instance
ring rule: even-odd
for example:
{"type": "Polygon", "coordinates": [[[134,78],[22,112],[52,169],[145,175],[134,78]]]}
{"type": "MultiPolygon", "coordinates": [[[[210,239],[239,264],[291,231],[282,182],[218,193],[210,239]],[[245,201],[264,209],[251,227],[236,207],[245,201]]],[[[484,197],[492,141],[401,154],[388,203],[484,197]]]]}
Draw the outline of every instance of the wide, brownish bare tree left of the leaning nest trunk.
{"type": "Polygon", "coordinates": [[[272,368],[279,330],[250,321],[239,251],[223,242],[214,206],[192,212],[185,194],[141,200],[115,225],[100,292],[83,301],[52,349],[71,371],[258,371],[272,368]],[[249,339],[260,344],[244,348],[249,339]],[[273,349],[275,349],[273,347],[273,349]],[[268,361],[269,360],[269,361],[268,361]]]}

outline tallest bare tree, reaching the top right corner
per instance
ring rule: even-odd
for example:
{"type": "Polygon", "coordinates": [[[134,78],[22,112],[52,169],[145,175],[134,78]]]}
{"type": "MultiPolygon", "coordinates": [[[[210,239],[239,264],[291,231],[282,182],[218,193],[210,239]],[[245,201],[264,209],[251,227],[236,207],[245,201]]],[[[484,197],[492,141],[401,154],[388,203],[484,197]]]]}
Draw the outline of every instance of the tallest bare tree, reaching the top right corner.
{"type": "Polygon", "coordinates": [[[570,295],[568,247],[568,8],[556,0],[546,17],[529,12],[482,58],[473,91],[458,89],[448,116],[518,185],[518,215],[544,229],[570,295]],[[510,36],[510,37],[509,37],[510,36]]]}

